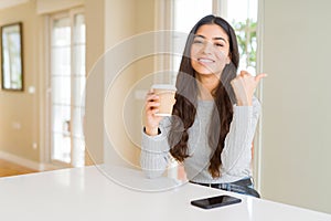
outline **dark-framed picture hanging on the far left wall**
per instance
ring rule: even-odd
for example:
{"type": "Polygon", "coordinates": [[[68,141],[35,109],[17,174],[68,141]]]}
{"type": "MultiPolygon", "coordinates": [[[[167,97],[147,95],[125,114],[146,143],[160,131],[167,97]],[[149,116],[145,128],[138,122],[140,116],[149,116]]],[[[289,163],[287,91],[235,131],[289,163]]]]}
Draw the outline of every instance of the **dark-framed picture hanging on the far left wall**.
{"type": "Polygon", "coordinates": [[[23,91],[22,22],[1,27],[1,87],[23,91]]]}

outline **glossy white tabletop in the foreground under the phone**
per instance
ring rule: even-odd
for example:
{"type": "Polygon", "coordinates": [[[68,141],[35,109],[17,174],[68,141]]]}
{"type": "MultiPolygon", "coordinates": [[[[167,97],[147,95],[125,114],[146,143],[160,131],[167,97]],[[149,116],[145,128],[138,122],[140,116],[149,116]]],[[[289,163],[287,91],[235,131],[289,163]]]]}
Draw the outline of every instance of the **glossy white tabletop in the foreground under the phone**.
{"type": "Polygon", "coordinates": [[[145,179],[138,170],[95,166],[1,178],[0,220],[331,221],[331,214],[191,183],[156,191],[160,185],[167,189],[173,183],[167,178],[145,179]],[[151,192],[125,188],[104,171],[113,172],[121,183],[151,192]],[[211,210],[190,204],[192,199],[220,193],[239,197],[243,202],[211,210]]]}

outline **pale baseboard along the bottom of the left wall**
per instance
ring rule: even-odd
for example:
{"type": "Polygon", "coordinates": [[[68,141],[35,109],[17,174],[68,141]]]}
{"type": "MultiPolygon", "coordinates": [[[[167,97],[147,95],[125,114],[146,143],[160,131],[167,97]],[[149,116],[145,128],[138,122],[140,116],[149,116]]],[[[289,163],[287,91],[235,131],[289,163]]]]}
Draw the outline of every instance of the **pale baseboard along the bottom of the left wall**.
{"type": "Polygon", "coordinates": [[[7,151],[2,151],[2,150],[0,150],[0,159],[4,159],[4,160],[11,161],[13,164],[20,165],[22,167],[26,167],[26,168],[38,170],[38,171],[57,169],[57,167],[54,165],[36,162],[31,159],[25,159],[23,157],[20,157],[20,156],[17,156],[17,155],[13,155],[13,154],[10,154],[7,151]]]}

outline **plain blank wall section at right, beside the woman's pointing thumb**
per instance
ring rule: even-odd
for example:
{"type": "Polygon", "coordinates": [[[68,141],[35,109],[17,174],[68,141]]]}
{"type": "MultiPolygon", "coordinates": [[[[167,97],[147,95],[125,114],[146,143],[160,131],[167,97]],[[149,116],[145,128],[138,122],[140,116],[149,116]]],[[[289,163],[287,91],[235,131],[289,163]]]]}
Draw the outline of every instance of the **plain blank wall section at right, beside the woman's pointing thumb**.
{"type": "Polygon", "coordinates": [[[261,194],[331,213],[331,1],[264,0],[261,194]]]}

